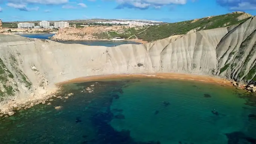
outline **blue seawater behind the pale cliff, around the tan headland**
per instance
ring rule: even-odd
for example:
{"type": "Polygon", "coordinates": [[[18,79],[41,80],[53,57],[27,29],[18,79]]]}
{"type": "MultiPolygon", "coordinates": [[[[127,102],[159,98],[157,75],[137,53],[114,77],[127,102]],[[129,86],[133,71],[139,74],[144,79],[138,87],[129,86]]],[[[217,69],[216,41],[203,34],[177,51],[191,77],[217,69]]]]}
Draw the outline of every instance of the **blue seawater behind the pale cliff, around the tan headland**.
{"type": "MultiPolygon", "coordinates": [[[[18,34],[27,38],[40,38],[49,39],[49,37],[55,35],[52,33],[38,33],[38,34],[18,34]]],[[[83,45],[94,45],[94,46],[106,46],[114,47],[121,44],[140,44],[134,41],[58,41],[64,44],[83,44],[83,45]]]]}

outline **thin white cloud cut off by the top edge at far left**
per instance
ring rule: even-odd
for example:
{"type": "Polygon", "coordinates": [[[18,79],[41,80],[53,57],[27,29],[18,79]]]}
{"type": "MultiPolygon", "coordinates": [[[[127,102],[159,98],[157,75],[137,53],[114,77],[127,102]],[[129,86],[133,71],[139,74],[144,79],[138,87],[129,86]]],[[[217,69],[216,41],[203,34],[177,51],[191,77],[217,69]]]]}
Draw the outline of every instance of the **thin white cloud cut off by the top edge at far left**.
{"type": "Polygon", "coordinates": [[[59,5],[68,3],[69,0],[8,0],[10,3],[39,3],[43,5],[59,5]]]}

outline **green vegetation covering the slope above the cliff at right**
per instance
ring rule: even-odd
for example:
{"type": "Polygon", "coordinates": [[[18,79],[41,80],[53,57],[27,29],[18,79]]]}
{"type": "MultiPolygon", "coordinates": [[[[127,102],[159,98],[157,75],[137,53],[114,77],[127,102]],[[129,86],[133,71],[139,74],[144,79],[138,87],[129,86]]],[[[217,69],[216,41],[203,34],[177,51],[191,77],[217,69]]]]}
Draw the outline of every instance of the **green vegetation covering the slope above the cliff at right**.
{"type": "Polygon", "coordinates": [[[239,24],[247,20],[245,19],[238,21],[236,18],[240,15],[242,14],[225,14],[215,17],[201,18],[198,20],[151,26],[145,32],[142,32],[136,36],[139,39],[143,39],[144,41],[155,41],[158,39],[167,38],[172,35],[186,34],[192,29],[197,29],[198,31],[232,26],[234,24],[239,24]]]}

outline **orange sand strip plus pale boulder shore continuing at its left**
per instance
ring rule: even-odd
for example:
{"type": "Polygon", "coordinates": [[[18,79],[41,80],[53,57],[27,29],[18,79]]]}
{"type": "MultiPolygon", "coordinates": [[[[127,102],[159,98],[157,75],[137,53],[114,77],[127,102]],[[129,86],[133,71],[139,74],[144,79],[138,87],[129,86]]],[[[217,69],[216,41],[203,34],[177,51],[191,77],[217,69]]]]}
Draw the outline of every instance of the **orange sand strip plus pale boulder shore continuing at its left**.
{"type": "MultiPolygon", "coordinates": [[[[81,83],[81,82],[93,82],[99,80],[110,80],[110,79],[117,79],[120,78],[155,78],[155,79],[177,79],[177,80],[189,80],[189,81],[197,81],[197,82],[205,82],[205,83],[213,83],[218,84],[221,86],[229,86],[230,88],[234,88],[234,82],[230,80],[220,78],[220,77],[213,77],[213,76],[206,76],[206,75],[196,75],[196,74],[181,74],[181,73],[149,73],[149,74],[108,74],[108,75],[96,75],[96,76],[86,76],[86,77],[78,77],[76,79],[67,80],[64,82],[55,83],[56,88],[52,90],[48,90],[47,95],[41,95],[40,97],[35,97],[34,99],[30,99],[31,97],[27,97],[26,100],[23,102],[19,102],[19,100],[9,100],[7,101],[6,105],[2,105],[0,110],[0,118],[1,117],[9,117],[15,114],[16,111],[21,109],[28,109],[32,106],[38,104],[47,104],[51,105],[50,102],[54,99],[68,99],[68,97],[72,96],[73,93],[59,95],[59,91],[61,90],[61,86],[70,83],[81,83]],[[24,102],[25,101],[25,102],[24,102]]],[[[98,82],[95,82],[95,84],[98,82]]],[[[87,93],[91,93],[93,87],[87,89],[87,93]]],[[[244,89],[244,86],[241,86],[238,89],[244,89]]]]}

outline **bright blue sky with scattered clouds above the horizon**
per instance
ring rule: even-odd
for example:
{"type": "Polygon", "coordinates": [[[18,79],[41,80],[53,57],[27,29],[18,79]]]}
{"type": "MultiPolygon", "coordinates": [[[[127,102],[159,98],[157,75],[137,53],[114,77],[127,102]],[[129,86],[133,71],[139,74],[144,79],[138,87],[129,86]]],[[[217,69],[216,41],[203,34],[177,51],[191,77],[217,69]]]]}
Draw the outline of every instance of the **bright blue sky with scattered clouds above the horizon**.
{"type": "Polygon", "coordinates": [[[0,0],[2,21],[146,19],[176,22],[244,11],[256,0],[0,0]]]}

